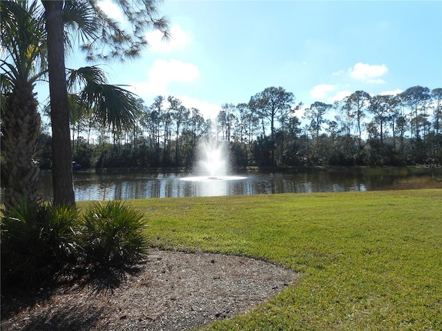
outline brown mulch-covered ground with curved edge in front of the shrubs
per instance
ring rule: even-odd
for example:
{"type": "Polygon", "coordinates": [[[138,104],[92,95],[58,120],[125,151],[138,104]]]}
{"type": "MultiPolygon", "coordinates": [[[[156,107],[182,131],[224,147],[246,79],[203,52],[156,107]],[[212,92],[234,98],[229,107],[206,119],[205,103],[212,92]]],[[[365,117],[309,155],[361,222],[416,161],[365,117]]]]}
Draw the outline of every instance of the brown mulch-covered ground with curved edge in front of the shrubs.
{"type": "Polygon", "coordinates": [[[243,314],[296,277],[247,257],[154,250],[124,272],[2,295],[1,330],[186,330],[243,314]]]}

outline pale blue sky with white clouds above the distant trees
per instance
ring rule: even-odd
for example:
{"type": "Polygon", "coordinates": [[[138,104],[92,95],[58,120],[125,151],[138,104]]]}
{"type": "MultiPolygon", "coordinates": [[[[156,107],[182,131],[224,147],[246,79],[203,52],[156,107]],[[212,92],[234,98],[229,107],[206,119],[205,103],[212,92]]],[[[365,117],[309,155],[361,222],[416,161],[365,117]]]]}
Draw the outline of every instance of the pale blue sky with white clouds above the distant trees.
{"type": "MultiPolygon", "coordinates": [[[[121,19],[111,0],[102,8],[121,19]]],[[[442,88],[442,1],[166,0],[159,9],[171,40],[147,32],[140,59],[102,66],[146,106],[172,95],[209,118],[271,86],[305,106],[356,90],[442,88]]],[[[66,66],[85,66],[79,59],[66,66]]]]}

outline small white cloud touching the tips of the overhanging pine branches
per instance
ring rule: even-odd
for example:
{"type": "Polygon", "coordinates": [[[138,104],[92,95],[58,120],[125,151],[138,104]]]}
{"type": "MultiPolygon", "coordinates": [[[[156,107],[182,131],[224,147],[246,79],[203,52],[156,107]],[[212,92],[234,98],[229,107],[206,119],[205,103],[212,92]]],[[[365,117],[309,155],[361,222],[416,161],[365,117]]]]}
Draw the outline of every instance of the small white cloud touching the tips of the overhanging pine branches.
{"type": "Polygon", "coordinates": [[[173,24],[170,28],[171,37],[169,40],[163,40],[162,32],[155,30],[146,33],[146,41],[154,52],[169,52],[170,50],[180,50],[188,45],[191,40],[191,34],[182,30],[178,24],[173,24]]]}

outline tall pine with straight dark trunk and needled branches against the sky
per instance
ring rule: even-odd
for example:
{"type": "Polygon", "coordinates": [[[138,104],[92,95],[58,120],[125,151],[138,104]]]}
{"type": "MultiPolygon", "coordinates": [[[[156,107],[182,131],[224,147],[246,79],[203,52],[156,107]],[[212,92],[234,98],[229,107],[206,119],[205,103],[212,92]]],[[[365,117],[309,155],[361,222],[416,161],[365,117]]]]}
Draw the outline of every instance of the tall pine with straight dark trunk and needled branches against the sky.
{"type": "Polygon", "coordinates": [[[168,22],[155,18],[157,1],[116,1],[129,24],[126,32],[99,9],[95,1],[41,1],[46,10],[50,114],[52,123],[52,183],[54,203],[75,205],[70,150],[68,93],[65,72],[65,37],[76,40],[86,58],[132,59],[147,41],[144,31],[155,28],[167,36],[168,22]],[[66,23],[66,30],[65,25],[66,23]],[[70,32],[65,33],[65,32],[70,32]]]}

